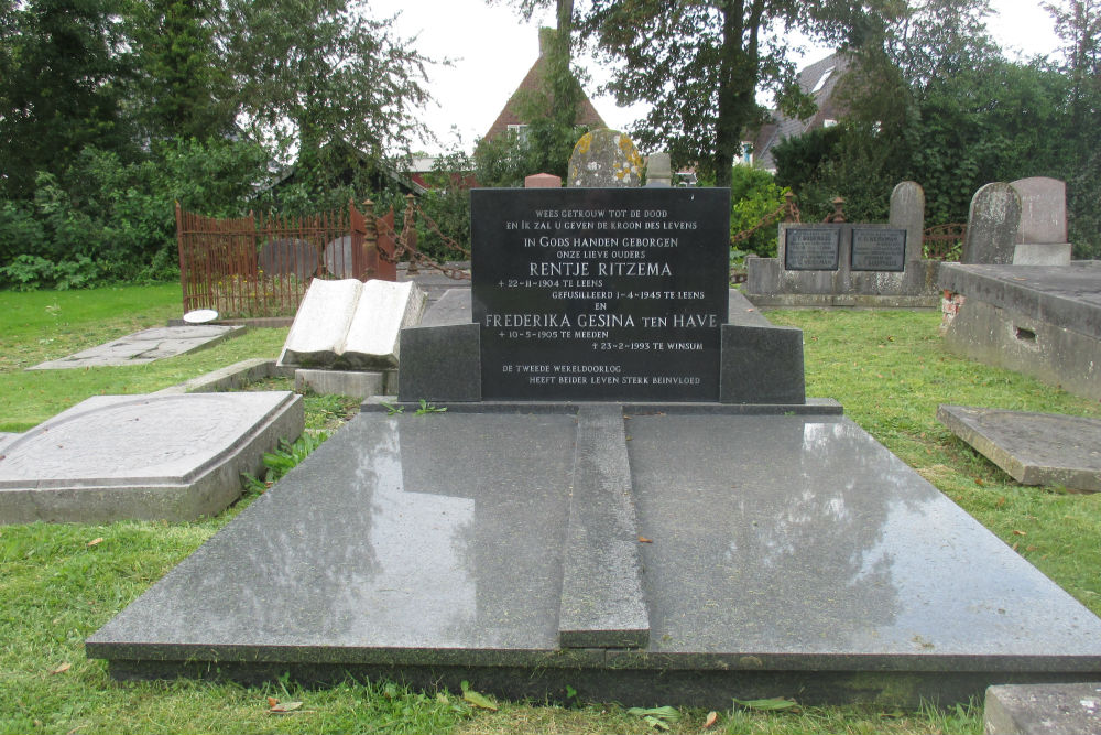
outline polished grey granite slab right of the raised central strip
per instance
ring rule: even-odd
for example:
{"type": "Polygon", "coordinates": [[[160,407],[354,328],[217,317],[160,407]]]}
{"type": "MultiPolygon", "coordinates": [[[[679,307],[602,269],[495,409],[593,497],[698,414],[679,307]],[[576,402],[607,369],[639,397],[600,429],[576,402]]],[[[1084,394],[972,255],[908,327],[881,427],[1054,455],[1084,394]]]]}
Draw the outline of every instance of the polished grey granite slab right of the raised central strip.
{"type": "Polygon", "coordinates": [[[669,666],[1101,664],[1101,620],[849,419],[628,433],[651,655],[669,666]]]}

